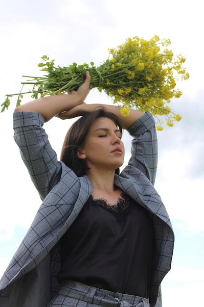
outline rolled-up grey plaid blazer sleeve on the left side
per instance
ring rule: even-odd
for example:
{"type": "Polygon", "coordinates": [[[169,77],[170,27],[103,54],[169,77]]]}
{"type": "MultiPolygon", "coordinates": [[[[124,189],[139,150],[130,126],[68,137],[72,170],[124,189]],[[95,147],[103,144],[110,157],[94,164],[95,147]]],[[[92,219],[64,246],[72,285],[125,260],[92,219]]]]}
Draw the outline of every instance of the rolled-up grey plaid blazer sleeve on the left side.
{"type": "Polygon", "coordinates": [[[14,140],[42,200],[61,177],[61,162],[43,128],[45,119],[36,112],[15,112],[14,140]]]}

